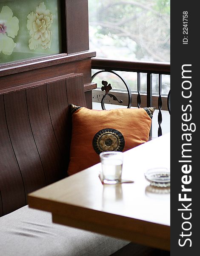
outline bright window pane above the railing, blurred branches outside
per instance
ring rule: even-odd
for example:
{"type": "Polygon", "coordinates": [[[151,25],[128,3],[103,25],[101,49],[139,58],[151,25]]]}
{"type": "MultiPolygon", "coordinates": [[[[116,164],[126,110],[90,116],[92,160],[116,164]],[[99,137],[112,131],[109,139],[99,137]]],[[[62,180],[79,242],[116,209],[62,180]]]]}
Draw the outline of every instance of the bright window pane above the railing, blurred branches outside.
{"type": "Polygon", "coordinates": [[[169,0],[89,0],[90,49],[97,57],[170,61],[169,0]]]}

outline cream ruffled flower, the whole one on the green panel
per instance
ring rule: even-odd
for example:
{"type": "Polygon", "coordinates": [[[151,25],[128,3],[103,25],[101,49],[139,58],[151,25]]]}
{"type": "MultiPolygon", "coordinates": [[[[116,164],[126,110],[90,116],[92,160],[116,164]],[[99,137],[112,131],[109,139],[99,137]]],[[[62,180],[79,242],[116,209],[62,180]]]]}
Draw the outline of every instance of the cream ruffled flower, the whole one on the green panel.
{"type": "Polygon", "coordinates": [[[42,49],[51,48],[52,31],[49,30],[53,23],[53,14],[46,9],[44,2],[36,7],[36,13],[27,16],[27,29],[30,30],[29,48],[35,50],[39,45],[42,49]]]}

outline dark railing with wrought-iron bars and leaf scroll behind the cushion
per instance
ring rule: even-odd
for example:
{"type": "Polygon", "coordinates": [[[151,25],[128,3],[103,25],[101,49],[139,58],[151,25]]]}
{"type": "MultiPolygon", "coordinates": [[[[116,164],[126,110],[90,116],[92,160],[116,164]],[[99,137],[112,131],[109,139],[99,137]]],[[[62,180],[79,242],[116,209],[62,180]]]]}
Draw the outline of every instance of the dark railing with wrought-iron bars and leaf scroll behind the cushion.
{"type": "MultiPolygon", "coordinates": [[[[140,95],[140,88],[141,88],[141,79],[140,79],[140,73],[146,73],[146,106],[152,107],[152,74],[159,74],[159,80],[158,80],[158,101],[157,101],[157,108],[158,108],[158,137],[162,135],[162,106],[163,106],[163,100],[162,100],[162,75],[170,75],[170,63],[163,63],[163,62],[146,62],[146,61],[117,61],[117,60],[110,60],[110,59],[104,59],[104,58],[92,58],[91,62],[92,69],[100,70],[96,72],[92,79],[94,79],[95,76],[97,76],[99,73],[103,72],[109,72],[114,73],[116,76],[118,76],[123,83],[126,86],[126,89],[128,91],[129,96],[129,103],[128,108],[131,107],[131,90],[129,87],[129,84],[127,84],[124,79],[119,76],[114,71],[126,71],[126,72],[136,72],[137,73],[137,107],[140,108],[141,105],[141,95],[140,95]]],[[[105,95],[102,98],[101,106],[102,109],[105,109],[104,100],[105,96],[108,95],[112,97],[114,100],[118,101],[116,96],[114,96],[109,91],[111,90],[111,85],[108,84],[107,81],[102,81],[102,90],[105,90],[105,95]]],[[[170,90],[167,97],[167,108],[170,114],[170,90]]],[[[151,136],[151,133],[150,133],[151,136]]]]}

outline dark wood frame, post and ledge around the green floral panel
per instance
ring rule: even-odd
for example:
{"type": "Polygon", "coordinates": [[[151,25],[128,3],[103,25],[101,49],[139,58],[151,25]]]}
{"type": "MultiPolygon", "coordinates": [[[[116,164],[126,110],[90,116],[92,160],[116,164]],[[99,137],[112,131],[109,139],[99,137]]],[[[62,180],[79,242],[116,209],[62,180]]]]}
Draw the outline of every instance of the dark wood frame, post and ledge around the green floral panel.
{"type": "Polygon", "coordinates": [[[0,94],[21,90],[27,84],[70,73],[83,73],[87,106],[91,108],[91,57],[88,0],[60,0],[62,51],[57,55],[0,64],[0,94]]]}

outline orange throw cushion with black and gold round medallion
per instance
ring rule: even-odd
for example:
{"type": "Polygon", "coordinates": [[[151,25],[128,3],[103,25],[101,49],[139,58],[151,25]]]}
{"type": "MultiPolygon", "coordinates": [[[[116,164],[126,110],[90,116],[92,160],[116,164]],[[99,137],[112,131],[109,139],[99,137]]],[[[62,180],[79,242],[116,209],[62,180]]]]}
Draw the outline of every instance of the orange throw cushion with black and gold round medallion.
{"type": "Polygon", "coordinates": [[[100,162],[103,151],[126,151],[149,140],[155,108],[91,110],[71,104],[72,134],[68,174],[100,162]]]}

